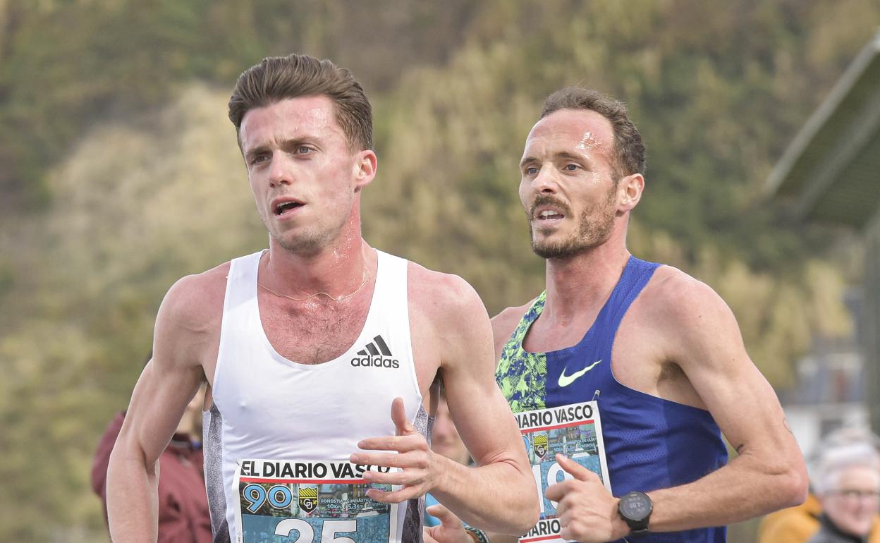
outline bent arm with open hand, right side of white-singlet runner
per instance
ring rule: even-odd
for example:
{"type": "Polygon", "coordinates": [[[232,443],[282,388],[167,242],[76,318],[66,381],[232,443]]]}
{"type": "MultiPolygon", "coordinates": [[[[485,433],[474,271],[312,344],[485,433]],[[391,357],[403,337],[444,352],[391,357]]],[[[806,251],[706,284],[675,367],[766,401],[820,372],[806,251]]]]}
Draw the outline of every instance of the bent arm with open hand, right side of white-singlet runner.
{"type": "Polygon", "coordinates": [[[350,461],[400,468],[364,473],[365,480],[399,487],[392,492],[371,488],[373,499],[400,503],[430,492],[468,524],[524,533],[538,519],[537,488],[516,419],[495,385],[486,308],[471,286],[454,275],[410,263],[408,281],[410,333],[422,394],[437,375],[444,379],[452,421],[477,466],[462,466],[431,451],[400,399],[392,403],[396,436],[362,440],[358,447],[363,452],[352,454],[350,461]]]}

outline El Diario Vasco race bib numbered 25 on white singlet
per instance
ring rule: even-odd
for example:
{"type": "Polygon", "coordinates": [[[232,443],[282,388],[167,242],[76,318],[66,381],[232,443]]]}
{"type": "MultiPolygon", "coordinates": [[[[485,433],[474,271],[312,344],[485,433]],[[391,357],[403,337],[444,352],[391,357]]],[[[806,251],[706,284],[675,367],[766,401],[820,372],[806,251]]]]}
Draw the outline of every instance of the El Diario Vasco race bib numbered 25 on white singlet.
{"type": "MultiPolygon", "coordinates": [[[[235,473],[238,543],[397,543],[398,506],[367,490],[366,471],[339,461],[240,460],[235,473]]],[[[395,470],[396,471],[396,470],[395,470]]]]}

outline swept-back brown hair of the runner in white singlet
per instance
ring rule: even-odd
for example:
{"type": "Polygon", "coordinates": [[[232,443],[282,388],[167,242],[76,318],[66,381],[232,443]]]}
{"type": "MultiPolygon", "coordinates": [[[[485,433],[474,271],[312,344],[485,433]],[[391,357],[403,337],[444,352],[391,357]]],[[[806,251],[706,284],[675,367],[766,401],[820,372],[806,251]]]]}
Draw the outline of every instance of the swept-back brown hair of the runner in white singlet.
{"type": "Polygon", "coordinates": [[[361,84],[347,69],[309,55],[268,56],[242,72],[229,99],[229,119],[238,134],[251,109],[304,96],[331,99],[351,150],[372,149],[372,108],[361,84]]]}

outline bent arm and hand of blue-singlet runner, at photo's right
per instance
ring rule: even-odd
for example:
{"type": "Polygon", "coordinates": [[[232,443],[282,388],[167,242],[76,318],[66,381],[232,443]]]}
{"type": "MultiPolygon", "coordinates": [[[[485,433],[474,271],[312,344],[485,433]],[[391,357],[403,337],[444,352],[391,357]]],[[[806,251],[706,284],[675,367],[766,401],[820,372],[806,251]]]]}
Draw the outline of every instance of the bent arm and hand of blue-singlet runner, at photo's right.
{"type": "MultiPolygon", "coordinates": [[[[807,476],[801,452],[773,389],[745,352],[730,308],[713,290],[680,272],[659,281],[652,290],[646,288],[639,302],[642,338],[656,349],[649,359],[678,364],[738,456],[697,481],[642,489],[649,490],[654,503],[649,531],[728,525],[803,502],[807,476]]],[[[595,473],[557,460],[574,476],[546,491],[547,498],[559,502],[561,535],[584,543],[627,535],[617,498],[595,473]]]]}

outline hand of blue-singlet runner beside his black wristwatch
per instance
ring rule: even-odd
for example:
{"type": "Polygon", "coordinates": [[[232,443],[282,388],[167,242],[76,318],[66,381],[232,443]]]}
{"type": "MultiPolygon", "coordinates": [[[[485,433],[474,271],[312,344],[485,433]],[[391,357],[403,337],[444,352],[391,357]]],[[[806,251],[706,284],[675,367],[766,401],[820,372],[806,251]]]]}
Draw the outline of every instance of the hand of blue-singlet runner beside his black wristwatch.
{"type": "Polygon", "coordinates": [[[545,493],[548,500],[558,502],[560,535],[582,543],[602,543],[626,536],[629,526],[617,514],[618,500],[598,475],[561,454],[556,455],[556,461],[574,477],[551,485],[545,493]]]}

